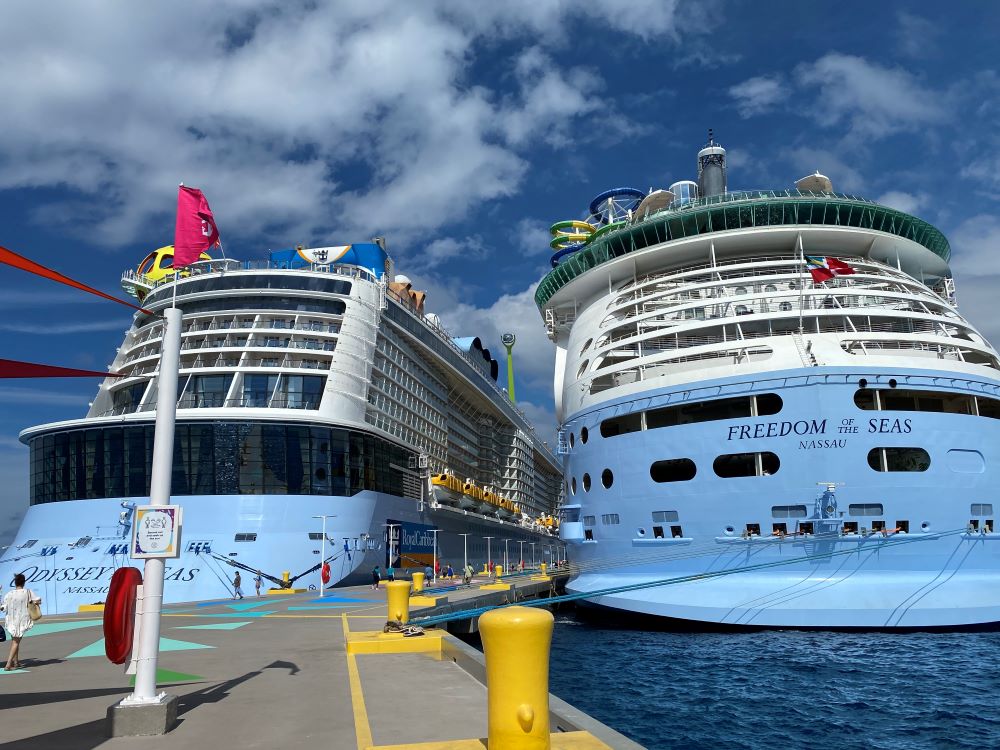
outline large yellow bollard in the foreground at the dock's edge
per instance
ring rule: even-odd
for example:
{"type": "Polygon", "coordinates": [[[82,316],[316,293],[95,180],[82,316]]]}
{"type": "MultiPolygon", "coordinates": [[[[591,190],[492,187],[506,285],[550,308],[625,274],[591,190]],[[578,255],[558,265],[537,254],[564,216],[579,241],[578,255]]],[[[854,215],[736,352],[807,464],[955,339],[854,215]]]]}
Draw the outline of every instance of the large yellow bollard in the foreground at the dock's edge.
{"type": "Polygon", "coordinates": [[[504,607],[479,618],[490,750],[549,750],[552,613],[504,607]]]}

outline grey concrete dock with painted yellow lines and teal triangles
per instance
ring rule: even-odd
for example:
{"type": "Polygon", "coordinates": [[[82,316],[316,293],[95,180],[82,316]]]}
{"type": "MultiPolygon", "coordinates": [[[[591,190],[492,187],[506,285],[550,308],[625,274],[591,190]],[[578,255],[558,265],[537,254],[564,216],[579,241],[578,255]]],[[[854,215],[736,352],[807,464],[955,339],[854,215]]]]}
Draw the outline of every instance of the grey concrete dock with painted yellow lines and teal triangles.
{"type": "MultiPolygon", "coordinates": [[[[545,578],[441,584],[412,618],[554,590],[545,578]]],[[[385,591],[367,586],[166,605],[157,684],[179,697],[178,725],[116,738],[105,716],[131,678],[104,655],[101,613],[45,617],[22,641],[23,668],[0,670],[0,749],[485,747],[483,654],[445,627],[383,635],[386,611],[385,591]]],[[[549,710],[553,748],[640,748],[559,697],[549,710]]]]}

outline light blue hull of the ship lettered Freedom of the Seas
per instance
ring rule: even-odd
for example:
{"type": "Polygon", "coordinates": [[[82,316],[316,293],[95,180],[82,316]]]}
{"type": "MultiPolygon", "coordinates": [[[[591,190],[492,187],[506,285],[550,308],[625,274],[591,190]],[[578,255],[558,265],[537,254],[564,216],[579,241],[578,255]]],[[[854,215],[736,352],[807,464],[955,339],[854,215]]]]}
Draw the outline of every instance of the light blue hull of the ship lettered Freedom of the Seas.
{"type": "Polygon", "coordinates": [[[572,415],[565,430],[579,435],[587,427],[588,440],[577,439],[567,459],[567,481],[578,485],[568,503],[590,519],[562,527],[580,569],[569,589],[594,594],[590,601],[601,607],[692,625],[1000,622],[1000,534],[992,533],[1000,419],[866,411],[854,400],[862,378],[878,389],[1000,394],[1000,383],[989,377],[940,369],[817,367],[647,390],[572,415]],[[611,417],[754,393],[778,394],[780,412],[601,434],[601,422],[611,417]],[[879,471],[869,464],[876,448],[921,448],[929,465],[879,471]],[[713,471],[720,455],[762,452],[780,460],[770,475],[723,478],[713,471]],[[679,458],[695,464],[695,476],[653,481],[654,462],[679,458]],[[610,488],[596,479],[605,469],[613,472],[610,488]],[[589,491],[584,473],[595,478],[589,491]],[[801,506],[807,509],[801,517],[777,510],[801,506]],[[853,513],[873,507],[882,512],[853,513]],[[676,520],[657,523],[657,512],[675,513],[667,517],[676,520]],[[619,522],[602,523],[610,514],[619,522]],[[872,533],[876,521],[886,532],[872,533]],[[773,533],[774,523],[788,533],[773,533]],[[807,524],[812,533],[797,531],[807,524]],[[666,526],[661,538],[655,526],[666,526]]]}

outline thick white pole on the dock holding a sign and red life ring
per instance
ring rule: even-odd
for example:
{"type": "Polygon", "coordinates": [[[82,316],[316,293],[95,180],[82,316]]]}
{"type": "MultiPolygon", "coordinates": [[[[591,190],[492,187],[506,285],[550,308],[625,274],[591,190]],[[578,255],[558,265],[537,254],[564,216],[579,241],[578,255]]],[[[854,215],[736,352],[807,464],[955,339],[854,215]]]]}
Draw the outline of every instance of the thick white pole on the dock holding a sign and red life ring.
{"type": "MultiPolygon", "coordinates": [[[[176,281],[174,286],[176,289],[176,281]]],[[[163,311],[163,348],[160,352],[160,374],[156,393],[150,505],[170,504],[170,478],[174,465],[174,422],[177,418],[177,377],[181,357],[181,317],[182,313],[176,307],[163,311]]],[[[158,703],[165,695],[165,693],[156,694],[163,568],[162,558],[146,560],[142,577],[142,624],[139,631],[135,690],[125,699],[128,703],[158,703]]]]}

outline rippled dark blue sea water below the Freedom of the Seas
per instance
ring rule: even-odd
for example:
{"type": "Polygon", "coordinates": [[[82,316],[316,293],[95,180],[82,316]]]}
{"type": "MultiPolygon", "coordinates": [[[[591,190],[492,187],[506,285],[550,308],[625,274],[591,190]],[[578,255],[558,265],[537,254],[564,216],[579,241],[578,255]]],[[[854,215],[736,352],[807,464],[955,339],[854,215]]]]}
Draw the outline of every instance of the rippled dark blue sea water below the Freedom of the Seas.
{"type": "Polygon", "coordinates": [[[648,748],[1000,748],[1000,633],[673,633],[556,614],[551,691],[648,748]]]}

